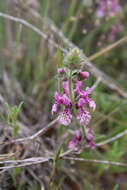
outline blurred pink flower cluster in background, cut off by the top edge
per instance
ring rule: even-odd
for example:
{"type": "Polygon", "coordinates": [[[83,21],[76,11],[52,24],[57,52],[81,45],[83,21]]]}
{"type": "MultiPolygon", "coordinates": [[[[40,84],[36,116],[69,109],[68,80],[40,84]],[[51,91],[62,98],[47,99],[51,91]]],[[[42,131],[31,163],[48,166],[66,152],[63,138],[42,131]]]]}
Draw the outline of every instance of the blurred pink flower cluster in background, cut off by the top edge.
{"type": "Polygon", "coordinates": [[[112,17],[120,11],[121,7],[118,0],[99,0],[96,11],[97,18],[105,16],[112,17]]]}

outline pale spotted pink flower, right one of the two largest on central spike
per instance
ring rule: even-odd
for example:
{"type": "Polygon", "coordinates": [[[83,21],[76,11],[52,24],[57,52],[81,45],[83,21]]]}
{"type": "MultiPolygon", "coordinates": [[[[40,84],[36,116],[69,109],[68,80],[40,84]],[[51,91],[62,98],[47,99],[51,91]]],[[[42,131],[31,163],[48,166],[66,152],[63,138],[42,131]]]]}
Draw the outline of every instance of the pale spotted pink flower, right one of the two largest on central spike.
{"type": "Polygon", "coordinates": [[[80,121],[81,125],[88,125],[90,122],[91,116],[87,110],[80,108],[79,113],[77,115],[77,119],[80,121]]]}

